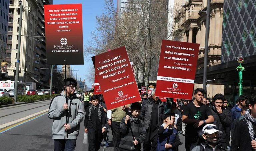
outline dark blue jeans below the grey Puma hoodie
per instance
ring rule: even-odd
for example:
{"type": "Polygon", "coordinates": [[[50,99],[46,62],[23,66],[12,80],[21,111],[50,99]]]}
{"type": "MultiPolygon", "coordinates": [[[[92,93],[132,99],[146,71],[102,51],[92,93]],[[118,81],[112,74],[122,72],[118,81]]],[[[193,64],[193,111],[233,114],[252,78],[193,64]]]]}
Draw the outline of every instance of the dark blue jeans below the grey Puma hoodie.
{"type": "Polygon", "coordinates": [[[76,139],[54,139],[54,151],[74,151],[76,139]]]}

